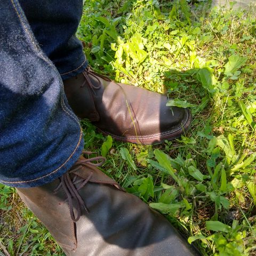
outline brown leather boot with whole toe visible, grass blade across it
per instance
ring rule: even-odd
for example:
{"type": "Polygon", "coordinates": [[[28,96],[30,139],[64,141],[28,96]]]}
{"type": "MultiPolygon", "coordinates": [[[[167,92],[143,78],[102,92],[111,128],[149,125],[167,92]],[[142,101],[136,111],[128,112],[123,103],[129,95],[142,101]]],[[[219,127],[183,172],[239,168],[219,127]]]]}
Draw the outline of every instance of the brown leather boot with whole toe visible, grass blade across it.
{"type": "Polygon", "coordinates": [[[172,140],[191,122],[188,109],[166,107],[165,95],[115,83],[89,67],[63,83],[75,114],[116,140],[144,145],[172,140]]]}

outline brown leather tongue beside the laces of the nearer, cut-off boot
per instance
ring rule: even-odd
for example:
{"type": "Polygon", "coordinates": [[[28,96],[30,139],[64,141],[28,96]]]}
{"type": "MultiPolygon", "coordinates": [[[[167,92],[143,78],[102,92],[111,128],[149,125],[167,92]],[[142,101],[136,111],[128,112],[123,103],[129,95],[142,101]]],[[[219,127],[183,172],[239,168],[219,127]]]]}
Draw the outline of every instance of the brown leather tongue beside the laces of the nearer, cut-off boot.
{"type": "Polygon", "coordinates": [[[73,174],[77,175],[78,177],[81,177],[83,179],[87,179],[90,177],[89,182],[93,183],[101,183],[101,184],[109,184],[115,186],[119,190],[123,190],[121,186],[113,179],[108,177],[106,174],[101,172],[97,167],[94,167],[90,164],[85,164],[82,166],[81,169],[73,172],[73,174]]]}

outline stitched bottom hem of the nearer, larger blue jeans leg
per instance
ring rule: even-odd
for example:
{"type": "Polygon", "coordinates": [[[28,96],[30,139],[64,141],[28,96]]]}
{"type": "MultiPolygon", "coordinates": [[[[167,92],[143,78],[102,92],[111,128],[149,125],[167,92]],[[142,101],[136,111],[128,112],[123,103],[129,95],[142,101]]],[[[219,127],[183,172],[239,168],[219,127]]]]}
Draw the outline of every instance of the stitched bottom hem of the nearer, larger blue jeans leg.
{"type": "Polygon", "coordinates": [[[79,140],[77,142],[77,145],[75,149],[72,151],[72,153],[68,156],[67,160],[62,163],[57,169],[50,171],[47,174],[44,174],[42,177],[37,177],[34,179],[23,180],[23,181],[5,181],[0,180],[0,183],[11,186],[11,187],[17,187],[17,188],[30,188],[30,187],[38,187],[43,186],[46,183],[50,183],[53,180],[61,177],[64,173],[66,173],[77,161],[79,156],[82,154],[83,150],[83,132],[81,129],[79,140]]]}

